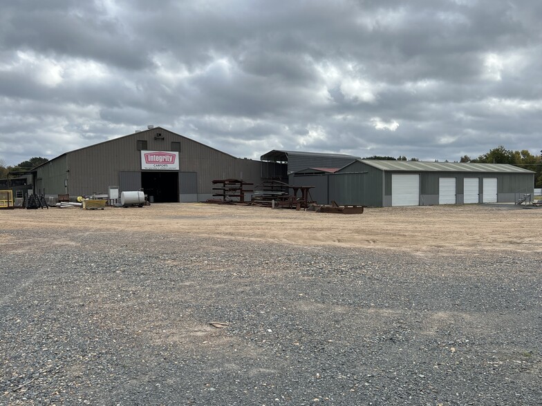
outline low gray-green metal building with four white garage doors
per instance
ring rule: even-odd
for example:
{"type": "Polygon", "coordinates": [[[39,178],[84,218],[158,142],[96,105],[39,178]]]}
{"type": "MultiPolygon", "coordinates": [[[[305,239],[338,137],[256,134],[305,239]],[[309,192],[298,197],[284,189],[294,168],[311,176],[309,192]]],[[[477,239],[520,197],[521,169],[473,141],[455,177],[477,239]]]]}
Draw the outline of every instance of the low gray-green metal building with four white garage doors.
{"type": "Polygon", "coordinates": [[[296,186],[315,186],[318,203],[428,206],[516,202],[534,191],[534,172],[507,164],[356,160],[335,173],[298,171],[296,186]]]}

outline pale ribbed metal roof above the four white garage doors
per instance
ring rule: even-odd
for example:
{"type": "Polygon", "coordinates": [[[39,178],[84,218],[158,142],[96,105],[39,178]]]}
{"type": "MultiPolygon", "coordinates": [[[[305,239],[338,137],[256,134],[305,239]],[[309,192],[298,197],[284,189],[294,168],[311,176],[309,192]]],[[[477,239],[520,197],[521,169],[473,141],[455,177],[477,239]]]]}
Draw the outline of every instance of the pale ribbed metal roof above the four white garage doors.
{"type": "Polygon", "coordinates": [[[533,173],[525,168],[509,164],[471,164],[463,162],[419,162],[359,160],[381,171],[408,172],[485,172],[485,173],[533,173]]]}

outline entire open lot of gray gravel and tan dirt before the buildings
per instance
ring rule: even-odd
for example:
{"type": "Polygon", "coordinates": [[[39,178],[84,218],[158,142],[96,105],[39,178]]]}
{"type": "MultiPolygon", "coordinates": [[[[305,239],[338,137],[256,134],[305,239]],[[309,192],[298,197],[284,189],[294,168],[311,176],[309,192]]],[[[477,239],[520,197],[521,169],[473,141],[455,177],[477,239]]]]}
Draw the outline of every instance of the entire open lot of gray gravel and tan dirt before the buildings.
{"type": "Polygon", "coordinates": [[[542,210],[0,221],[0,405],[542,404],[542,210]]]}

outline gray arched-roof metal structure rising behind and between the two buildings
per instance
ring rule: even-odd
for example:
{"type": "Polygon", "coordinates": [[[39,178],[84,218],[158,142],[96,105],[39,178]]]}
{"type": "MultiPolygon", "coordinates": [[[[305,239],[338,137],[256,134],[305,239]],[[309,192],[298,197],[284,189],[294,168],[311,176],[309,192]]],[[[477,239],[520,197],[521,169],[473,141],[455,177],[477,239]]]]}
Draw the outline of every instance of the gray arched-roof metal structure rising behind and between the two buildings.
{"type": "Polygon", "coordinates": [[[269,151],[261,155],[261,177],[288,182],[288,175],[306,168],[342,168],[359,157],[301,151],[269,151]]]}

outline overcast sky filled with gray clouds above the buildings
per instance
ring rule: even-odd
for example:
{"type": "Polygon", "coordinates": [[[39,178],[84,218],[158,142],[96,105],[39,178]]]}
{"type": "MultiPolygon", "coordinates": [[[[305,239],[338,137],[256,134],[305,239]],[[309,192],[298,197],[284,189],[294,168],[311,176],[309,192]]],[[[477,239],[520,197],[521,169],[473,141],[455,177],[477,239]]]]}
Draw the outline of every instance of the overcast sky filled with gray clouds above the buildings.
{"type": "Polygon", "coordinates": [[[541,0],[0,0],[0,161],[148,124],[237,157],[542,149],[541,0]]]}

